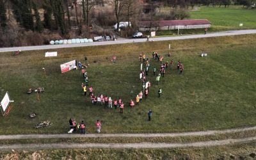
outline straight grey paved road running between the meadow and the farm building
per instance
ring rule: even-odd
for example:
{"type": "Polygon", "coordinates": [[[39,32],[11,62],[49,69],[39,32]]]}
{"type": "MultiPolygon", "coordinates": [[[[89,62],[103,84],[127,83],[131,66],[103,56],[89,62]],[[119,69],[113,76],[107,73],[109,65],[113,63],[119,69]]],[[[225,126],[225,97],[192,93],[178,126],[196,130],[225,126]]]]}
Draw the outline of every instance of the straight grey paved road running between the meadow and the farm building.
{"type": "MultiPolygon", "coordinates": [[[[184,40],[184,39],[192,39],[192,38],[247,35],[247,34],[255,34],[255,33],[256,33],[256,29],[223,31],[223,32],[217,32],[217,33],[207,33],[206,35],[166,36],[166,37],[159,37],[159,38],[149,38],[149,41],[184,40]]],[[[59,45],[35,45],[35,46],[26,46],[26,47],[6,47],[6,48],[0,48],[0,52],[12,52],[12,51],[18,51],[18,50],[31,51],[31,50],[42,50],[42,49],[60,49],[60,48],[84,47],[84,46],[93,46],[93,45],[129,44],[129,43],[146,42],[146,41],[147,41],[147,38],[138,38],[138,39],[125,39],[125,40],[116,40],[116,41],[93,42],[93,43],[86,43],[86,44],[59,44],[59,45]]]]}

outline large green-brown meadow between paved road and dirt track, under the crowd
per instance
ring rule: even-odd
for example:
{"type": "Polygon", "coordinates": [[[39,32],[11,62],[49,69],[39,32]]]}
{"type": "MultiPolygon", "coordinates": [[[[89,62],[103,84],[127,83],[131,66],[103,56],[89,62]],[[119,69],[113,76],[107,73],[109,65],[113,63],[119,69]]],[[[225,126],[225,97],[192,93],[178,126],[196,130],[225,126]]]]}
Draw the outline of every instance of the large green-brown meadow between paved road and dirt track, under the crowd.
{"type": "MultiPolygon", "coordinates": [[[[227,36],[195,40],[149,42],[140,44],[106,45],[58,50],[57,58],[44,58],[44,51],[24,52],[20,56],[0,54],[1,97],[8,90],[15,102],[10,115],[0,117],[1,134],[66,133],[69,118],[84,120],[88,132],[95,132],[95,120],[102,122],[102,132],[180,132],[205,129],[224,129],[256,124],[255,119],[255,51],[256,35],[227,36]],[[127,106],[140,91],[141,52],[159,51],[171,43],[173,59],[181,60],[185,71],[180,76],[174,67],[156,85],[152,61],[148,79],[152,81],[149,98],[134,109],[127,106]],[[206,58],[200,53],[207,52],[206,58]],[[81,92],[83,77],[78,70],[60,73],[60,64],[88,56],[88,76],[95,94],[121,97],[124,114],[118,110],[93,106],[81,92]],[[117,63],[111,56],[117,55],[117,63]],[[93,61],[96,60],[96,63],[93,61]],[[45,67],[47,78],[44,77],[45,67]],[[43,86],[40,95],[27,95],[29,87],[43,86]],[[163,96],[157,98],[158,88],[163,96]],[[192,93],[195,92],[195,95],[192,93]],[[152,109],[153,120],[147,121],[152,109]],[[35,119],[29,113],[36,112],[35,119]],[[42,120],[53,125],[33,129],[42,120]]],[[[150,56],[151,58],[151,56],[150,56]]],[[[164,61],[170,58],[164,56],[164,61]]],[[[176,64],[176,63],[175,63],[176,64]]]]}

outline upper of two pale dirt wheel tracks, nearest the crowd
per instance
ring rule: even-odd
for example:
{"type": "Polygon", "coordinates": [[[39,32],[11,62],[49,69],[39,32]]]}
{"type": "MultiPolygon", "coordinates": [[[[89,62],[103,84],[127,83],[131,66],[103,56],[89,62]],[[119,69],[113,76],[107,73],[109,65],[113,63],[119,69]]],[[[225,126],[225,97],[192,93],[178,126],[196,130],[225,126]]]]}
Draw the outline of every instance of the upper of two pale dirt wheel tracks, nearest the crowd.
{"type": "Polygon", "coordinates": [[[0,135],[0,140],[19,140],[19,139],[41,139],[41,138],[104,138],[104,137],[179,137],[179,136],[209,136],[214,134],[226,134],[232,132],[253,131],[255,127],[246,127],[239,129],[226,129],[216,131],[199,131],[199,132],[177,132],[177,133],[140,133],[140,134],[15,134],[0,135]]]}

